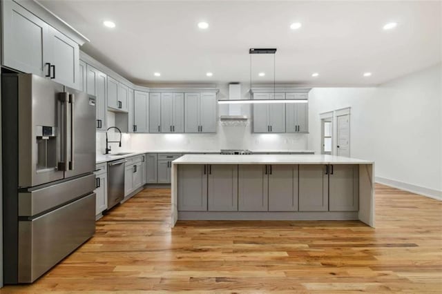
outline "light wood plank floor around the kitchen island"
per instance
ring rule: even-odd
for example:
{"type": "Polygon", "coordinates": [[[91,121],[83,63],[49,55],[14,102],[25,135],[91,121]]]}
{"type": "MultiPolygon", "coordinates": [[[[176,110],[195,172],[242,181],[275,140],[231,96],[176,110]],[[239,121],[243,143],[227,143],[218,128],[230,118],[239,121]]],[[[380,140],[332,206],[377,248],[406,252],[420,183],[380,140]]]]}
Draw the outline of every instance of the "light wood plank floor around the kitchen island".
{"type": "Polygon", "coordinates": [[[30,286],[1,293],[442,293],[442,202],[376,186],[376,224],[178,222],[146,189],[30,286]]]}

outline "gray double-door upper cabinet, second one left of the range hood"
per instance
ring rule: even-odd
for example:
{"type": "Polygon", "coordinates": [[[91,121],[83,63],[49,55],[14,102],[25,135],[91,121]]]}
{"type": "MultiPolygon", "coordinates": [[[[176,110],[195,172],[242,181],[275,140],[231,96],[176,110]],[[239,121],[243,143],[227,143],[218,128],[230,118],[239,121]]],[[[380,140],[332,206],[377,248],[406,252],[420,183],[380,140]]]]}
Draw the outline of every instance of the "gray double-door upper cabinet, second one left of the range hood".
{"type": "Polygon", "coordinates": [[[161,93],[161,133],[184,133],[184,93],[161,93]]]}

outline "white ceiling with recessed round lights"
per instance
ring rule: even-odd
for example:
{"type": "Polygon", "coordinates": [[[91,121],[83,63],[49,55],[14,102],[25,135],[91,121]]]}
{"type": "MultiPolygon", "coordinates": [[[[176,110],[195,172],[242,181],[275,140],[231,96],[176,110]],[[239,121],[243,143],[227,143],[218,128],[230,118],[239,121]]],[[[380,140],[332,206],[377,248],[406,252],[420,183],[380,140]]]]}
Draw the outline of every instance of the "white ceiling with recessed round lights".
{"type": "MultiPolygon", "coordinates": [[[[40,2],[90,39],[84,52],[138,84],[249,81],[249,48],[262,47],[278,48],[277,82],[311,86],[381,84],[441,61],[440,1],[40,2]]],[[[253,83],[273,81],[271,55],[259,59],[253,83]]]]}

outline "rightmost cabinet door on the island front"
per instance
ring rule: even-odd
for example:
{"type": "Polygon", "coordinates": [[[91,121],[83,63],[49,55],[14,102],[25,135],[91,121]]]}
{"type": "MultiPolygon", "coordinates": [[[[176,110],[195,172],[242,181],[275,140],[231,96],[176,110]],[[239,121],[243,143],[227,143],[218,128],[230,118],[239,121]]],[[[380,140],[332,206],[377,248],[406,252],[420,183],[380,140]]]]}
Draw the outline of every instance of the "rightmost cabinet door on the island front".
{"type": "Polygon", "coordinates": [[[333,164],[329,170],[330,211],[358,211],[359,166],[333,164]]]}

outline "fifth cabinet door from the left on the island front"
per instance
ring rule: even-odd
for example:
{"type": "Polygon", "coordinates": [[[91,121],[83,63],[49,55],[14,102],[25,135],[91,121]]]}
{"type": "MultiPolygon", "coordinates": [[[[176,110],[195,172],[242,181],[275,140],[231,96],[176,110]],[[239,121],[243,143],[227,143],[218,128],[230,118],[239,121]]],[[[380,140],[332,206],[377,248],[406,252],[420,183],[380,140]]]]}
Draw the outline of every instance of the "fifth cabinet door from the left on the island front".
{"type": "Polygon", "coordinates": [[[323,164],[299,166],[299,210],[329,210],[329,176],[323,164]]]}

